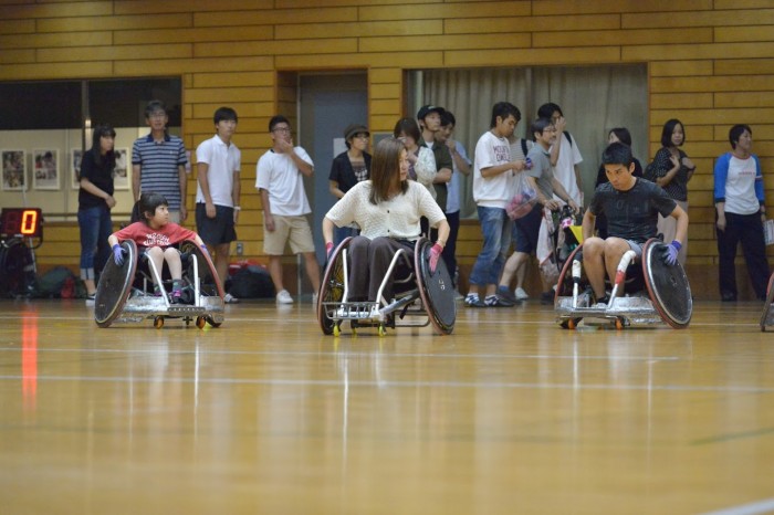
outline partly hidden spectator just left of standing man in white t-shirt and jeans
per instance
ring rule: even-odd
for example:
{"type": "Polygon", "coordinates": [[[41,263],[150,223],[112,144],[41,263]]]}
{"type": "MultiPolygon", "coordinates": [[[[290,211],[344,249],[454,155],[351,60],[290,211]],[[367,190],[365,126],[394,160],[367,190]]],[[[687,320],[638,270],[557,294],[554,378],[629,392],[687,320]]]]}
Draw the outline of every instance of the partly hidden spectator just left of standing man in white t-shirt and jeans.
{"type": "Polygon", "coordinates": [[[449,222],[449,240],[446,242],[443,248],[443,263],[447,270],[454,278],[454,286],[458,286],[458,271],[457,271],[457,235],[460,232],[460,183],[462,182],[463,174],[466,177],[470,175],[470,159],[468,159],[468,153],[460,141],[452,139],[454,134],[454,126],[457,125],[457,119],[454,115],[448,111],[441,114],[441,128],[436,133],[436,141],[440,145],[446,145],[451,153],[451,159],[453,162],[453,171],[451,174],[451,180],[447,182],[447,200],[446,200],[446,219],[449,222]]]}

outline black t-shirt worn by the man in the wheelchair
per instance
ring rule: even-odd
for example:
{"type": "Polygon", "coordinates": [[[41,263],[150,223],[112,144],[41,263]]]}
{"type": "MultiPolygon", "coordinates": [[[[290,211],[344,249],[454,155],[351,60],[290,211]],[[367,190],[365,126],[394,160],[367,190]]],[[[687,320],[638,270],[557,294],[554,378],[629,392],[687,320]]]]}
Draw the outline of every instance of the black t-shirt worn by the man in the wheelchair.
{"type": "Polygon", "coordinates": [[[676,207],[661,187],[636,179],[628,191],[618,191],[609,182],[599,186],[588,209],[595,217],[605,213],[608,235],[645,243],[658,232],[658,214],[669,217],[676,207]]]}

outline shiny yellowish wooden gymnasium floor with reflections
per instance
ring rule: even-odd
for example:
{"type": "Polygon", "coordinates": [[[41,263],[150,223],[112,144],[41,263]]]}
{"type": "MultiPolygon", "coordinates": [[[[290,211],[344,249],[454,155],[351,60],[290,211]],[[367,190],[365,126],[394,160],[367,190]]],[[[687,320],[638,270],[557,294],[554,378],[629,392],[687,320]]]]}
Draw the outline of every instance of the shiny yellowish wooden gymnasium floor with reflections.
{"type": "Polygon", "coordinates": [[[0,302],[0,514],[774,513],[774,328],[553,308],[323,336],[312,305],[98,329],[0,302]]]}

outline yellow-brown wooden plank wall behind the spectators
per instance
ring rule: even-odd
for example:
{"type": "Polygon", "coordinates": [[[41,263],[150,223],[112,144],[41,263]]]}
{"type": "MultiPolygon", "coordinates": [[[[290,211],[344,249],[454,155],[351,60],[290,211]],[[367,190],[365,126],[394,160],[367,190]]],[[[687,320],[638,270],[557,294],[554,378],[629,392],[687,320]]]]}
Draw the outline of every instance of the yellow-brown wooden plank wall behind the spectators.
{"type": "MultiPolygon", "coordinates": [[[[212,135],[213,111],[234,107],[240,238],[259,259],[255,161],[273,114],[296,125],[297,76],[310,71],[367,70],[369,128],[391,132],[405,111],[407,70],[647,63],[649,155],[661,124],[677,117],[699,167],[690,185],[694,266],[717,263],[712,167],[729,149],[729,127],[751,124],[764,171],[774,167],[771,0],[0,1],[0,81],[181,76],[191,151],[212,135]]],[[[774,179],[766,186],[774,201],[774,179]]],[[[42,261],[76,265],[77,229],[59,229],[42,261]]],[[[461,263],[472,263],[480,239],[466,222],[461,263]]]]}

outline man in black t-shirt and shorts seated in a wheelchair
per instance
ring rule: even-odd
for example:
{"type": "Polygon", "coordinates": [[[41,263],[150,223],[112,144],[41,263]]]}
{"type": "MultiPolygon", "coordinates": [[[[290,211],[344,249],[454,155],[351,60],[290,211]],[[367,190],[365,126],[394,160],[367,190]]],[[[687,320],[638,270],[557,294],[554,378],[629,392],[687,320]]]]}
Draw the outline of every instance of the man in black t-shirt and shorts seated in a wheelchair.
{"type": "Polygon", "coordinates": [[[628,146],[610,144],[602,162],[609,182],[596,189],[583,218],[583,265],[597,302],[607,304],[605,272],[615,278],[618,263],[629,250],[642,255],[642,244],[656,237],[659,213],[677,219],[676,239],[665,254],[667,263],[677,262],[688,233],[688,213],[659,186],[632,176],[635,165],[628,146]],[[594,221],[603,212],[607,217],[605,240],[594,237],[594,221]]]}

